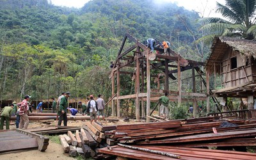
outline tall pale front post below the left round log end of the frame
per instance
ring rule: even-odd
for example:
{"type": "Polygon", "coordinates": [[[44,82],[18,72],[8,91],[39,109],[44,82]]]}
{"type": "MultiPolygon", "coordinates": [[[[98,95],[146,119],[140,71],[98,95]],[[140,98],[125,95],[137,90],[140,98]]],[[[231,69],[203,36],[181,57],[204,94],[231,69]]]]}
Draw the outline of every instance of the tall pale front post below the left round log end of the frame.
{"type": "Polygon", "coordinates": [[[147,122],[150,122],[150,118],[148,117],[150,114],[150,63],[148,60],[149,51],[147,50],[147,122]]]}

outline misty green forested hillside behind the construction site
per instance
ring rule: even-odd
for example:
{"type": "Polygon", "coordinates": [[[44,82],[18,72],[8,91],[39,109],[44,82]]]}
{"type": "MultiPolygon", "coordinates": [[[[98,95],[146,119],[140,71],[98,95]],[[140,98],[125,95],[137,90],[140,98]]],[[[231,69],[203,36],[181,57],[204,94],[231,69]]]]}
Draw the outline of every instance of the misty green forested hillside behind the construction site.
{"type": "MultiPolygon", "coordinates": [[[[0,100],[49,99],[67,90],[72,98],[110,97],[109,63],[125,33],[141,42],[169,40],[182,56],[203,60],[193,37],[202,36],[198,14],[154,2],[93,0],[76,9],[47,0],[0,1],[0,100]]],[[[125,86],[122,92],[131,92],[125,86]]]]}

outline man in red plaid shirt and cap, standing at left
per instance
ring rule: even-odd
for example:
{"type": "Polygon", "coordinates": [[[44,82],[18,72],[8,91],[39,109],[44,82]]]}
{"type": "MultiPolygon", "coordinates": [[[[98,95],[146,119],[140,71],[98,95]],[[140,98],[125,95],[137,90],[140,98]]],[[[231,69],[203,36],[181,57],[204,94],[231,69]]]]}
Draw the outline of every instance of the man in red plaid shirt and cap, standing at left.
{"type": "Polygon", "coordinates": [[[20,124],[19,129],[28,129],[29,119],[28,119],[28,100],[31,98],[29,95],[25,95],[24,100],[18,104],[20,106],[20,124]]]}

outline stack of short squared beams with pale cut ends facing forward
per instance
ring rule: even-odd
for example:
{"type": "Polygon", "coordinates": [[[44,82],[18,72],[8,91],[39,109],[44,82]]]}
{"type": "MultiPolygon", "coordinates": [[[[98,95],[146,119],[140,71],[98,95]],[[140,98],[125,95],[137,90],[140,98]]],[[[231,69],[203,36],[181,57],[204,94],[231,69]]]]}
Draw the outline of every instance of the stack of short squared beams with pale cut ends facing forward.
{"type": "Polygon", "coordinates": [[[74,134],[68,131],[67,134],[61,134],[59,136],[64,152],[68,153],[69,156],[80,154],[81,156],[93,157],[94,159],[109,157],[108,155],[99,154],[97,148],[108,146],[104,131],[110,131],[116,129],[116,127],[102,127],[95,122],[92,122],[92,124],[86,122],[85,124],[81,129],[76,130],[74,134]]]}

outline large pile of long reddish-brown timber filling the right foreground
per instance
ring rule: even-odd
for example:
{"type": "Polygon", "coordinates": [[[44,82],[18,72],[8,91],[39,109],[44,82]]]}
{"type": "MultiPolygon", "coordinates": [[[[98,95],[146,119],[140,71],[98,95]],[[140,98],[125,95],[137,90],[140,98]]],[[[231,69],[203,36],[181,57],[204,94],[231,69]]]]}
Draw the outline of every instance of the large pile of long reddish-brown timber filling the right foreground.
{"type": "MultiPolygon", "coordinates": [[[[256,145],[255,127],[256,120],[229,120],[227,122],[214,120],[212,117],[116,125],[115,130],[102,132],[110,147],[99,148],[97,151],[102,154],[134,159],[173,159],[173,157],[116,146],[116,144],[122,143],[130,144],[129,147],[140,145],[136,147],[177,154],[181,159],[228,159],[227,157],[230,159],[255,159],[256,154],[246,152],[184,148],[232,147],[230,149],[244,151],[245,147],[256,145]],[[156,145],[157,147],[155,147],[156,145]]],[[[91,133],[99,135],[97,131],[91,133]]]]}

